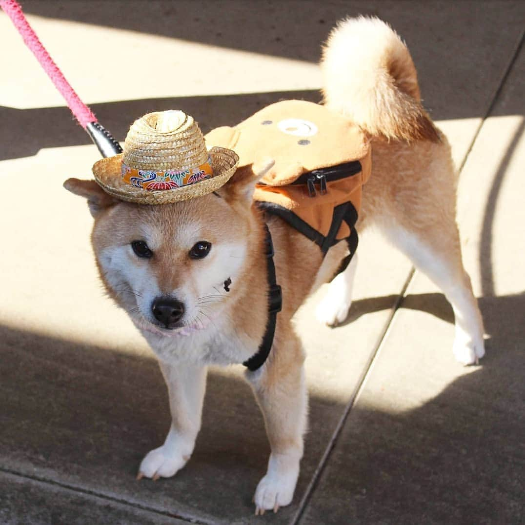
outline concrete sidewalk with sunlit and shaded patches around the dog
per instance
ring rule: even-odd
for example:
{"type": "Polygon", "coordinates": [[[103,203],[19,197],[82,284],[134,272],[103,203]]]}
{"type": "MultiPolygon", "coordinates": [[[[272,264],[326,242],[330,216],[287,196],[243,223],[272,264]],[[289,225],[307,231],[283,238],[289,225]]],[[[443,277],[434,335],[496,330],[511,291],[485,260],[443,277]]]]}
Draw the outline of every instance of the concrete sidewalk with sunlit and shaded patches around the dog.
{"type": "Polygon", "coordinates": [[[148,111],[183,109],[206,132],[280,99],[319,101],[334,23],[391,23],[461,167],[464,260],[489,339],[479,366],[456,363],[444,297],[364,236],[348,321],[313,322],[324,290],[298,315],[310,431],[292,505],[253,517],[269,446],[241,367],[209,373],[188,465],[135,481],[170,416],[151,351],[102,295],[86,204],[61,186],[88,178],[99,155],[0,14],[0,523],[525,523],[525,4],[23,7],[119,140],[148,111]]]}

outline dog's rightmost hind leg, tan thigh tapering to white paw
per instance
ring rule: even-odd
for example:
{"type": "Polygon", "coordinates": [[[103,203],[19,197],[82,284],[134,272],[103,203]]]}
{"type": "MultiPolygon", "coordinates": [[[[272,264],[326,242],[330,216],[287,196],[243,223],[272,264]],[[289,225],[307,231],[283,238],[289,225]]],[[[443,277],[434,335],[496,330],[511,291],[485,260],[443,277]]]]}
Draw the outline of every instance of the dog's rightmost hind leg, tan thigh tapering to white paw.
{"type": "Polygon", "coordinates": [[[454,355],[460,363],[474,364],[485,354],[484,328],[461,260],[457,225],[453,218],[439,213],[437,203],[427,204],[428,224],[419,223],[416,228],[410,220],[401,225],[388,217],[378,225],[388,240],[443,291],[454,310],[454,355]],[[434,211],[432,206],[436,207],[434,211]]]}

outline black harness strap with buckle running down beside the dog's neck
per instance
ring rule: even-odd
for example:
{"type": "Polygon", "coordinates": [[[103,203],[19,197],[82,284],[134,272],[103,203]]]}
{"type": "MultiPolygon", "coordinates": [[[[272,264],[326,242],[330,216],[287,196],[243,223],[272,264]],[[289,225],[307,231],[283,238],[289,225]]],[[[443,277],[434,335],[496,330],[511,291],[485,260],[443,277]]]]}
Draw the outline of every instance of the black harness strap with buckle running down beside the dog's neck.
{"type": "Polygon", "coordinates": [[[274,264],[274,244],[271,241],[270,230],[265,224],[266,228],[266,264],[268,272],[268,321],[266,322],[266,331],[262,337],[262,342],[259,345],[259,350],[255,355],[252,355],[250,359],[245,361],[243,364],[248,370],[254,372],[259,369],[266,359],[271,350],[271,345],[274,342],[275,325],[277,322],[277,313],[282,308],[282,293],[281,287],[277,284],[277,278],[275,275],[275,264],[274,264]]]}

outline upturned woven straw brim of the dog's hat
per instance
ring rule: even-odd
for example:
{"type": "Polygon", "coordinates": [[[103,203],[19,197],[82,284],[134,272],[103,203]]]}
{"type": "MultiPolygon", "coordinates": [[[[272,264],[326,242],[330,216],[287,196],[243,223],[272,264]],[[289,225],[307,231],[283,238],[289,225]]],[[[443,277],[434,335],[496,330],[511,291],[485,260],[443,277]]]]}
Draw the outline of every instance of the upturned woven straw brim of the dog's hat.
{"type": "Polygon", "coordinates": [[[209,154],[212,158],[213,177],[173,190],[149,191],[125,183],[121,176],[122,153],[96,162],[93,165],[93,176],[106,193],[122,201],[138,204],[169,204],[187,201],[218,190],[226,184],[237,169],[239,157],[234,151],[214,146],[209,154]]]}

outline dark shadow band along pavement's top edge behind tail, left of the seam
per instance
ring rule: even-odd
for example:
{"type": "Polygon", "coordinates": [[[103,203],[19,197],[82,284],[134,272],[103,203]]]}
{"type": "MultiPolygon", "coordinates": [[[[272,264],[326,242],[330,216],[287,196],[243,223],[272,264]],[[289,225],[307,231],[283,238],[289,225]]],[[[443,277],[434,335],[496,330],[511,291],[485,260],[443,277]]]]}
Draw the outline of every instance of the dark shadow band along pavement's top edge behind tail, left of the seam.
{"type": "MultiPolygon", "coordinates": [[[[446,4],[387,0],[25,0],[24,9],[28,14],[58,20],[311,63],[319,61],[321,45],[339,20],[360,14],[379,16],[406,41],[425,105],[437,120],[484,116],[505,71],[508,47],[516,45],[514,39],[525,13],[520,2],[477,0],[446,4]],[[487,71],[491,71],[490,76],[487,71]]],[[[79,39],[78,45],[85,43],[79,39]]],[[[93,57],[94,64],[96,61],[93,57]]]]}

